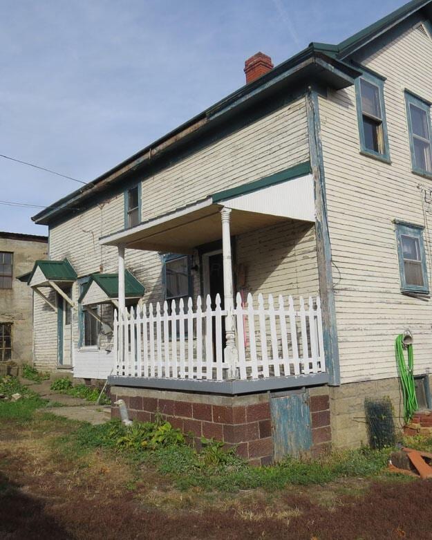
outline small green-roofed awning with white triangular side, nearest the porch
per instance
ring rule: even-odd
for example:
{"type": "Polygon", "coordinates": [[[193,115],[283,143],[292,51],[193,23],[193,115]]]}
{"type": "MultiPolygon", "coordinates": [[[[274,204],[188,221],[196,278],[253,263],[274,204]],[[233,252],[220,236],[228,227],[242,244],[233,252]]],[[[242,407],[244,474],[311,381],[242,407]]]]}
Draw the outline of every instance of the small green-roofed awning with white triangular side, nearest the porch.
{"type": "MultiPolygon", "coordinates": [[[[139,299],[144,295],[144,286],[129,270],[124,272],[124,294],[129,299],[139,299]]],[[[107,304],[118,299],[118,274],[91,274],[79,303],[84,306],[91,304],[107,304]]]]}

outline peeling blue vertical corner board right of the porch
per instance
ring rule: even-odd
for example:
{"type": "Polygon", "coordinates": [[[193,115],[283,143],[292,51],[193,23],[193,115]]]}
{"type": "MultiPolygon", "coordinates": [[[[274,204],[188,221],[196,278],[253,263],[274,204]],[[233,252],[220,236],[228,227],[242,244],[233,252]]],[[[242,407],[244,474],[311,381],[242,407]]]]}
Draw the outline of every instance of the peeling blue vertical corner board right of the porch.
{"type": "Polygon", "coordinates": [[[314,177],[314,197],[317,218],[317,261],[319,290],[323,313],[323,342],[330,386],[341,384],[339,366],[339,343],[337,338],[335,292],[332,277],[332,248],[328,232],[326,177],[324,174],[323,151],[321,145],[321,122],[319,118],[318,93],[310,89],[306,97],[308,115],[310,164],[314,177]]]}

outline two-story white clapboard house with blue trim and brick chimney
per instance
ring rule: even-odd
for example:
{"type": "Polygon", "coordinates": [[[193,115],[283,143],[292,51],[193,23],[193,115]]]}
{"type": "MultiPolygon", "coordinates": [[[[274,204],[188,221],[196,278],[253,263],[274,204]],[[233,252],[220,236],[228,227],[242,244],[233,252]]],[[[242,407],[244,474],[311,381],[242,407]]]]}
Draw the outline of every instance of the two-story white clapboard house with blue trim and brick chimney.
{"type": "Polygon", "coordinates": [[[35,359],[254,463],[400,420],[409,330],[429,404],[432,5],[312,43],[37,214],[35,359]]]}

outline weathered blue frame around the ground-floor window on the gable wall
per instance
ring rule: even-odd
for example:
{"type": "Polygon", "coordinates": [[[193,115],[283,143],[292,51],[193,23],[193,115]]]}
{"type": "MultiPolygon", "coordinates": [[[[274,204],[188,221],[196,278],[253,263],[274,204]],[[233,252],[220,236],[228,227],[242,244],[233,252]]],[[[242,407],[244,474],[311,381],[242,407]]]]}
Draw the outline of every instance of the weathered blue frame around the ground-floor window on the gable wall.
{"type": "Polygon", "coordinates": [[[424,227],[415,225],[414,223],[406,223],[405,221],[395,221],[395,234],[397,243],[397,259],[399,261],[400,273],[400,288],[401,292],[416,292],[417,294],[429,295],[429,278],[427,273],[426,251],[424,250],[423,241],[424,227]],[[423,286],[409,285],[406,283],[404,252],[402,249],[402,236],[411,236],[419,242],[420,261],[422,263],[423,286]]]}

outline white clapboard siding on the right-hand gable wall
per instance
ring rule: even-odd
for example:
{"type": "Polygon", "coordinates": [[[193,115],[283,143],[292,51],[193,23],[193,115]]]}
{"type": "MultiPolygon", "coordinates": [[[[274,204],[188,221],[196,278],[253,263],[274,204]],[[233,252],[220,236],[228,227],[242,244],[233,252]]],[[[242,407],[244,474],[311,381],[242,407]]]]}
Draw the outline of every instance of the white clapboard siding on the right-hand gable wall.
{"type": "MultiPolygon", "coordinates": [[[[368,50],[361,63],[386,77],[391,164],[359,153],[354,87],[319,98],[342,382],[396,377],[394,339],[405,328],[415,373],[432,368],[432,301],[401,294],[392,223],[426,225],[431,252],[432,209],[424,214],[417,185],[432,181],[411,172],[404,89],[432,100],[432,40],[411,26],[368,50]]],[[[429,284],[431,271],[428,261],[429,284]]]]}

